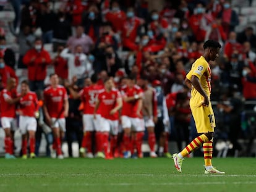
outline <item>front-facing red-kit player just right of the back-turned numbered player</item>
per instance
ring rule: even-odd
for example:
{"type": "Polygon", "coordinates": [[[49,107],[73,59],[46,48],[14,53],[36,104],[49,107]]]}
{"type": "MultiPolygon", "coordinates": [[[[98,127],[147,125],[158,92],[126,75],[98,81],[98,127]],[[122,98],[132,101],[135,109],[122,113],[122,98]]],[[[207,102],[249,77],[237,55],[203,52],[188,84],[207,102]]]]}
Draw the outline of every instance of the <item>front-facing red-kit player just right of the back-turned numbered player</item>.
{"type": "MultiPolygon", "coordinates": [[[[117,145],[118,112],[122,107],[122,98],[118,90],[114,89],[112,78],[105,81],[105,90],[96,99],[94,115],[99,111],[101,138],[97,140],[98,150],[105,152],[106,159],[113,159],[114,149],[117,145]],[[108,148],[109,132],[111,133],[110,150],[108,148]]],[[[96,116],[95,116],[96,118],[96,116]]]]}

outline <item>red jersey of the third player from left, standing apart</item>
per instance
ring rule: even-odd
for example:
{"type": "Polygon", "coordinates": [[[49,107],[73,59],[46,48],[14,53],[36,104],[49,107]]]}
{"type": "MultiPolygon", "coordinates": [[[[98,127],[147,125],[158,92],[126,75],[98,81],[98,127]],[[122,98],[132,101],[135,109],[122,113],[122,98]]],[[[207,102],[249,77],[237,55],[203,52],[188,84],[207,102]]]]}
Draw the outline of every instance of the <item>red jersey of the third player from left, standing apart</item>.
{"type": "Polygon", "coordinates": [[[64,118],[64,101],[67,99],[67,91],[64,86],[57,88],[48,86],[43,93],[45,104],[51,118],[64,118]]]}

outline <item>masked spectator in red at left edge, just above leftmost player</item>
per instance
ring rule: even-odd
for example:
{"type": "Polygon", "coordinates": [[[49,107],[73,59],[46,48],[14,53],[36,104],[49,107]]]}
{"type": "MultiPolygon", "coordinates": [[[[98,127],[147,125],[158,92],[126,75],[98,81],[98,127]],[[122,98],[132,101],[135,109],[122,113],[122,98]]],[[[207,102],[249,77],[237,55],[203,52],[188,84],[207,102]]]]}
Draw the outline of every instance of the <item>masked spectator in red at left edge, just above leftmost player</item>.
{"type": "Polygon", "coordinates": [[[4,57],[0,52],[0,88],[5,88],[8,78],[15,78],[16,82],[18,82],[18,78],[15,74],[14,69],[9,67],[4,63],[4,57]]]}

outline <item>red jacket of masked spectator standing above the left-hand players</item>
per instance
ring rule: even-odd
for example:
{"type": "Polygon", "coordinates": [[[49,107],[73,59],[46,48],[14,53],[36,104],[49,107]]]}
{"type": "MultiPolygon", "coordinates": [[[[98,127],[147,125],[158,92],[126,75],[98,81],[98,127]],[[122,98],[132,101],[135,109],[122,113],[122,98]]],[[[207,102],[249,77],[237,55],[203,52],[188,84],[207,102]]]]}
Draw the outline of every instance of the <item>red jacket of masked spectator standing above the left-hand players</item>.
{"type": "Polygon", "coordinates": [[[49,53],[42,49],[40,52],[36,49],[30,49],[23,57],[23,64],[28,67],[28,80],[41,81],[46,77],[46,66],[51,64],[49,53]],[[32,61],[35,57],[35,61],[32,61]],[[45,62],[42,60],[45,59],[45,62]]]}

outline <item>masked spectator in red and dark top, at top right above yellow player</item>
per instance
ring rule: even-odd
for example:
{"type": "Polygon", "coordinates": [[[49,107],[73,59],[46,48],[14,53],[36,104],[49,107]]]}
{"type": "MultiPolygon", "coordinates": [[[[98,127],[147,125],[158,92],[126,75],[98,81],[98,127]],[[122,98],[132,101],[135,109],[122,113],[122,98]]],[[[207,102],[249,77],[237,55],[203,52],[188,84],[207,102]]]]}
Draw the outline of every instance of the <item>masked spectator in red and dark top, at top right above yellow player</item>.
{"type": "Polygon", "coordinates": [[[230,31],[234,31],[235,27],[239,25],[238,15],[236,11],[232,9],[230,1],[224,1],[223,10],[218,17],[222,19],[222,25],[226,35],[228,35],[230,31]]]}

